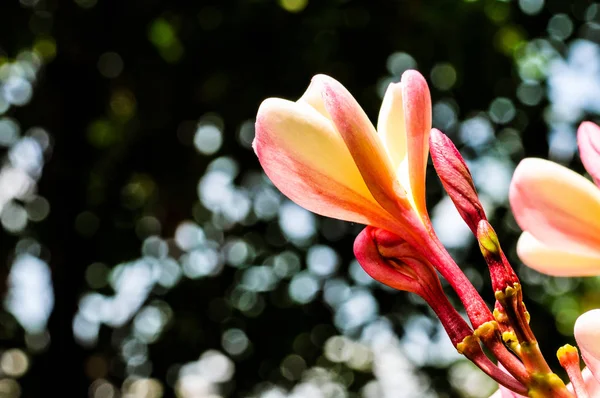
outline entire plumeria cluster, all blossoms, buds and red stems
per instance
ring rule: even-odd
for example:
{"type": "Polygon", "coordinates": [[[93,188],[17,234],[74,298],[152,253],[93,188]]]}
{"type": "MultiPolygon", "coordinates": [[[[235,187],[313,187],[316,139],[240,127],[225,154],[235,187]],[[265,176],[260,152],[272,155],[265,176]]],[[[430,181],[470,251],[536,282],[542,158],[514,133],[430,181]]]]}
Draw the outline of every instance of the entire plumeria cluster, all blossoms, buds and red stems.
{"type": "MultiPolygon", "coordinates": [[[[584,164],[600,181],[600,128],[583,124],[579,142],[584,164]]],[[[466,163],[448,137],[431,129],[429,89],[418,72],[407,71],[400,83],[389,86],[377,128],[343,85],[315,76],[298,101],[262,103],[254,150],[271,181],[300,206],[367,225],[354,244],[365,271],[421,296],[456,349],[499,383],[498,394],[600,396],[600,310],[582,315],[575,327],[587,364],[583,373],[576,348],[558,352],[571,379],[566,386],[546,363],[529,327],[521,284],[466,163]],[[493,311],[433,230],[425,203],[429,154],[488,264],[493,311]],[[470,324],[448,301],[438,273],[458,295],[470,324]]],[[[526,231],[518,251],[527,265],[558,275],[600,274],[600,191],[591,182],[553,163],[527,159],[510,192],[515,217],[526,231]]]]}

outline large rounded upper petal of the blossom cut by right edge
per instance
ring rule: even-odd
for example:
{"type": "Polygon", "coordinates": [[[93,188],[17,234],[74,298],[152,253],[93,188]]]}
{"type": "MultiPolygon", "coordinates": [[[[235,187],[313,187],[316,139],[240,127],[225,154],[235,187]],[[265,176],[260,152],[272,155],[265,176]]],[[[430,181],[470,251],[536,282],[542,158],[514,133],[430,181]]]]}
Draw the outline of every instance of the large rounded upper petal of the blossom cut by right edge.
{"type": "Polygon", "coordinates": [[[519,226],[546,245],[569,251],[600,250],[600,190],[556,163],[523,160],[510,186],[519,226]]]}

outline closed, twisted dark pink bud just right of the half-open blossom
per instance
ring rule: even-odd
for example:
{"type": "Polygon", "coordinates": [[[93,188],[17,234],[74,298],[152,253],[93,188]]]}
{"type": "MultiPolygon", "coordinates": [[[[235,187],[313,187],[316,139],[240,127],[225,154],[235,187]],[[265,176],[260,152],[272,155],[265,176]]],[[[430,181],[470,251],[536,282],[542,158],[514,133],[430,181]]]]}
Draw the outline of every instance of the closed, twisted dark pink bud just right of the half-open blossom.
{"type": "Polygon", "coordinates": [[[431,130],[429,148],[433,166],[444,189],[460,216],[476,234],[477,224],[486,217],[465,160],[452,140],[437,129],[431,130]]]}

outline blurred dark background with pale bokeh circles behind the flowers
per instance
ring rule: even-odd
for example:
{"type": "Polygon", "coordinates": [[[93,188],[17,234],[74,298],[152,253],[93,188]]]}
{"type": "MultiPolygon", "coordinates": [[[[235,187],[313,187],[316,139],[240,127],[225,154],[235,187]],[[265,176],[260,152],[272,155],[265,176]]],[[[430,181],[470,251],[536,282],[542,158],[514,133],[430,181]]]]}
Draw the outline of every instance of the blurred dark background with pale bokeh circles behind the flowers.
{"type": "MultiPolygon", "coordinates": [[[[361,230],[283,197],[251,149],[271,96],[329,74],[375,120],[416,68],[468,160],[555,365],[598,278],[514,253],[525,156],[583,171],[600,113],[588,0],[3,0],[0,396],[485,397],[424,303],[353,259],[361,230]]],[[[491,304],[433,172],[428,203],[491,304]]]]}

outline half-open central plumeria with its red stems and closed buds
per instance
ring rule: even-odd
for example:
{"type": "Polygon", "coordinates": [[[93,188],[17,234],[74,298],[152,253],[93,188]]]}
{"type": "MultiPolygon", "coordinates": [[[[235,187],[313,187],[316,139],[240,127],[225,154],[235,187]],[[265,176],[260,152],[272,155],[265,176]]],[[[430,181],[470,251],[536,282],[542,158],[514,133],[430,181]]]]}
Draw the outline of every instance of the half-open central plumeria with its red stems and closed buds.
{"type": "MultiPolygon", "coordinates": [[[[262,103],[253,146],[267,176],[292,201],[324,216],[366,224],[354,245],[365,271],[423,297],[456,349],[482,371],[519,394],[572,397],[543,358],[520,282],[487,221],[466,163],[448,137],[431,130],[429,90],[418,72],[407,71],[400,83],[388,87],[377,128],[339,82],[315,76],[298,101],[270,98],[262,103]],[[431,226],[425,204],[430,147],[442,185],[489,266],[493,314],[431,226]],[[436,271],[457,293],[470,325],[445,297],[436,271]]],[[[586,322],[581,336],[591,330],[586,322]]],[[[563,349],[562,362],[571,370],[574,358],[579,360],[574,350],[563,349]]],[[[586,343],[582,353],[596,356],[586,343]]],[[[594,369],[589,365],[592,374],[594,369]]],[[[575,391],[584,388],[579,367],[571,373],[575,391]]]]}

